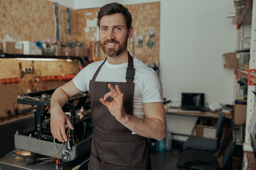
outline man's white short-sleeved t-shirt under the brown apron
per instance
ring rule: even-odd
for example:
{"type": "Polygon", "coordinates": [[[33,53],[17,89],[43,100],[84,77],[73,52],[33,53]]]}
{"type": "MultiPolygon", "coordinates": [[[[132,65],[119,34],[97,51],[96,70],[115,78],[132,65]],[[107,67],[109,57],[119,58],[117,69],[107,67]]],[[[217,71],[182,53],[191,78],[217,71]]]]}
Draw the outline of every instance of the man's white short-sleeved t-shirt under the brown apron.
{"type": "MultiPolygon", "coordinates": [[[[102,62],[104,60],[92,62],[76,75],[73,82],[80,91],[89,91],[90,80],[102,62]]],[[[142,103],[163,102],[163,91],[156,72],[136,57],[134,58],[134,68],[133,114],[137,118],[144,119],[145,115],[142,103]]],[[[106,61],[95,81],[126,82],[126,71],[127,62],[123,64],[110,64],[106,61]]]]}

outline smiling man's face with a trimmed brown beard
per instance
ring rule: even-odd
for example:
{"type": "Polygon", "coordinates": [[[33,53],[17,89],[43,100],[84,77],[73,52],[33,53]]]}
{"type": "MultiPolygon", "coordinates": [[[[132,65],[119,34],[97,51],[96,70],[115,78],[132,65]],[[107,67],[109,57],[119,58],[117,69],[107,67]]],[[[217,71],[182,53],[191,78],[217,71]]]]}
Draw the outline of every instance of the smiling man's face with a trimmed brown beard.
{"type": "Polygon", "coordinates": [[[100,47],[105,55],[116,57],[127,49],[127,40],[132,37],[121,13],[103,16],[100,20],[100,47]]]}

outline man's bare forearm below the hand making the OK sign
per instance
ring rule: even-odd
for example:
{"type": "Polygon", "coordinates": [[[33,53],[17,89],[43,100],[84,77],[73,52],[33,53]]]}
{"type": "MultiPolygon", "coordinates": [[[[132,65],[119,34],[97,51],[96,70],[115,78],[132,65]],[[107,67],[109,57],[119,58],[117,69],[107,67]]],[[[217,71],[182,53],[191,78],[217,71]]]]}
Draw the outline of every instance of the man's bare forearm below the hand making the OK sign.
{"type": "Polygon", "coordinates": [[[120,123],[132,132],[144,137],[163,140],[166,135],[166,123],[157,118],[139,119],[133,115],[126,115],[120,123]]]}

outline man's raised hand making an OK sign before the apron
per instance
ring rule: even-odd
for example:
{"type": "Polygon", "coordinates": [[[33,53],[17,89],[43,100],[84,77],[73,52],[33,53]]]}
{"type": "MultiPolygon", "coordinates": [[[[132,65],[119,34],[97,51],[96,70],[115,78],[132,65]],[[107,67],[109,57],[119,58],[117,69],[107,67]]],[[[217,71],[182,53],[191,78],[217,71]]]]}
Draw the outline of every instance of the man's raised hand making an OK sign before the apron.
{"type": "Polygon", "coordinates": [[[120,120],[123,120],[126,115],[123,106],[124,94],[122,94],[122,91],[119,89],[118,85],[115,86],[115,89],[111,84],[108,84],[107,86],[110,89],[110,92],[105,94],[104,98],[100,98],[100,101],[103,105],[107,106],[110,113],[114,115],[114,118],[120,122],[120,120]],[[112,102],[107,101],[107,98],[109,97],[113,98],[112,102]]]}

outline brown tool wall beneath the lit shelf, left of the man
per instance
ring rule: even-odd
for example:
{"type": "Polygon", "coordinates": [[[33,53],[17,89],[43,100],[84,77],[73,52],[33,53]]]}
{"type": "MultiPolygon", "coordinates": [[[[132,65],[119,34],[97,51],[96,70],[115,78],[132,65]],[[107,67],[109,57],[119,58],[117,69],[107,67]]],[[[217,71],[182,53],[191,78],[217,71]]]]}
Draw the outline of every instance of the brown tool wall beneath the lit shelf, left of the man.
{"type": "Polygon", "coordinates": [[[6,117],[6,111],[9,109],[14,111],[18,107],[17,96],[21,93],[31,92],[33,90],[46,90],[58,88],[67,81],[39,81],[36,77],[78,74],[78,62],[68,62],[66,60],[59,61],[24,61],[16,59],[0,59],[0,79],[9,79],[19,77],[18,84],[0,84],[0,118],[6,117]],[[34,65],[34,73],[23,74],[19,69],[19,63],[23,68],[32,67],[34,65]]]}

